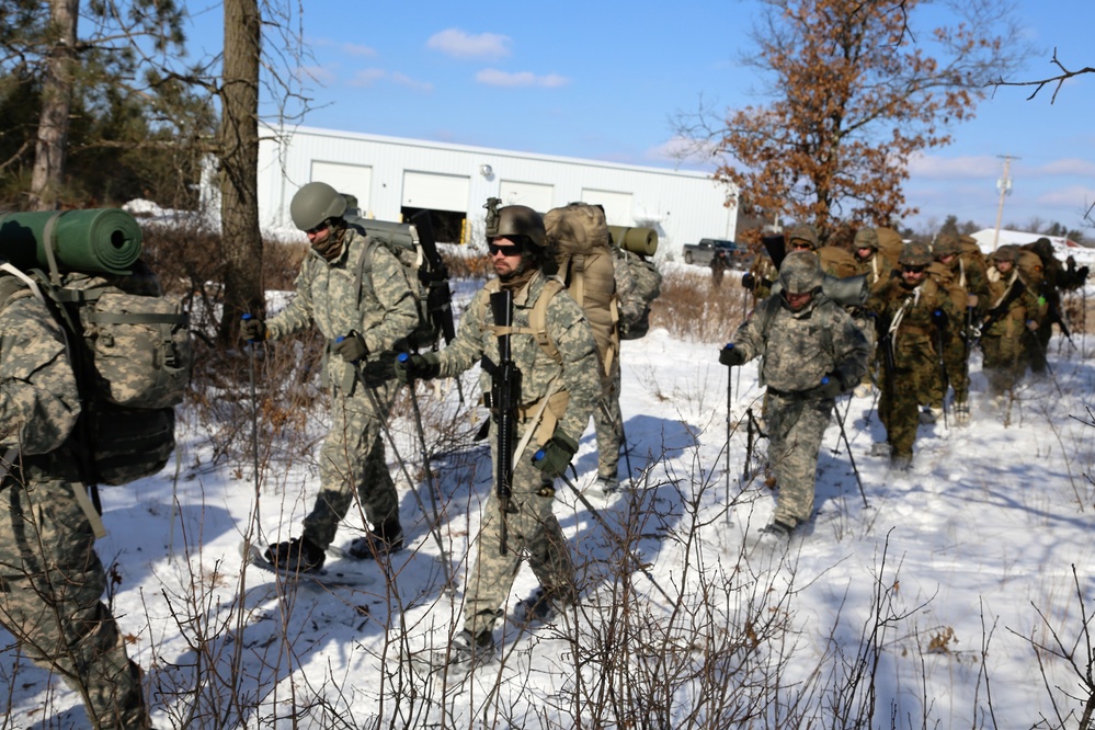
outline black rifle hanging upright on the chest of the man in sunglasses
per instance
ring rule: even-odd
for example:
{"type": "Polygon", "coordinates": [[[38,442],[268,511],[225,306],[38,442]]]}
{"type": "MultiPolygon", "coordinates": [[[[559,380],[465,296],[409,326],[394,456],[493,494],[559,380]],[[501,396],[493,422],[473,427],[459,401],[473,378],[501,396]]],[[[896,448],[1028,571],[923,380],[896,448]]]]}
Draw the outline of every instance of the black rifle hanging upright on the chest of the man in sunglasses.
{"type": "Polygon", "coordinates": [[[501,540],[499,555],[507,552],[509,531],[505,515],[517,510],[511,504],[513,499],[513,449],[517,423],[517,397],[521,392],[521,370],[513,362],[510,344],[510,328],[513,327],[513,292],[503,289],[490,295],[490,308],[498,327],[498,363],[483,356],[482,368],[491,376],[491,411],[498,433],[498,454],[494,468],[494,493],[498,495],[501,540]]]}

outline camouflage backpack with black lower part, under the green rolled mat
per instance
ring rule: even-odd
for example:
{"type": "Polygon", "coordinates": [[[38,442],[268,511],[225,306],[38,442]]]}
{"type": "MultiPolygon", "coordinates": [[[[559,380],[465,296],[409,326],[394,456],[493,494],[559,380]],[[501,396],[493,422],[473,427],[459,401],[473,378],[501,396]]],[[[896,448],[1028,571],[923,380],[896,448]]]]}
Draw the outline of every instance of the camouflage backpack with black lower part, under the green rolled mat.
{"type": "Polygon", "coordinates": [[[73,443],[88,484],[160,471],[175,446],[174,406],[190,384],[189,318],[151,271],[135,269],[107,280],[0,266],[0,309],[35,296],[65,332],[83,409],[73,443]]]}

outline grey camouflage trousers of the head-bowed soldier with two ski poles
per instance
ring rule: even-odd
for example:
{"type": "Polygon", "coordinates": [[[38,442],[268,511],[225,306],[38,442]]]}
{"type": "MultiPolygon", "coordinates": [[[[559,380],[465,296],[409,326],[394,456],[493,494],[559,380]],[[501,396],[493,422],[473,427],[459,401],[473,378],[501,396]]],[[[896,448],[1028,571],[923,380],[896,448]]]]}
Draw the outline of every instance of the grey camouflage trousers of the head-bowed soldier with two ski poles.
{"type": "Polygon", "coordinates": [[[813,513],[818,452],[829,426],[833,399],[807,400],[768,389],[768,464],[779,486],[775,518],[798,525],[813,513]]]}

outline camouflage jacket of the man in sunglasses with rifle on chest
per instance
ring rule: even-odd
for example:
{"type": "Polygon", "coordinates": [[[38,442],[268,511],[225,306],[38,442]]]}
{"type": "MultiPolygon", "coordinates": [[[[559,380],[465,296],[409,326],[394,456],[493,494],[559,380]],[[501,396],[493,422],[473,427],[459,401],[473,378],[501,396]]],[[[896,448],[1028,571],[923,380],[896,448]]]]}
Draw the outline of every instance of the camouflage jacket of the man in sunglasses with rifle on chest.
{"type": "MultiPolygon", "coordinates": [[[[529,326],[529,313],[546,282],[543,274],[537,274],[514,292],[513,327],[529,326]]],[[[479,289],[465,309],[456,339],[438,353],[441,375],[458,375],[484,355],[492,363],[498,362],[498,338],[491,329],[494,318],[489,296],[487,287],[479,289]]],[[[558,429],[577,441],[603,393],[593,330],[582,308],[566,292],[548,303],[547,335],[559,351],[558,360],[549,355],[533,334],[512,335],[511,354],[521,370],[521,406],[527,409],[551,390],[566,391],[570,399],[566,411],[559,414],[558,429]]],[[[480,375],[479,384],[482,392],[490,392],[491,377],[486,370],[480,375]]]]}

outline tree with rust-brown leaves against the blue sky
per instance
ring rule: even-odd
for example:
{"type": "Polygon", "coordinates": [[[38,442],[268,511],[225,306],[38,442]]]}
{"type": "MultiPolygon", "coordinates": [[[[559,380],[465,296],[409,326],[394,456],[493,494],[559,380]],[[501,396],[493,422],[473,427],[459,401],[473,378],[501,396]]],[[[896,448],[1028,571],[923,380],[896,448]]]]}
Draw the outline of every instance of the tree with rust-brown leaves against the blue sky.
{"type": "MultiPolygon", "coordinates": [[[[888,225],[916,212],[910,156],[944,146],[991,75],[1024,57],[1003,0],[948,2],[962,22],[917,32],[920,0],[764,0],[745,66],[766,104],[678,115],[677,133],[720,161],[746,210],[888,225]],[[1020,52],[1017,53],[1016,48],[1020,52]]],[[[942,4],[942,3],[936,3],[942,4]]]]}

